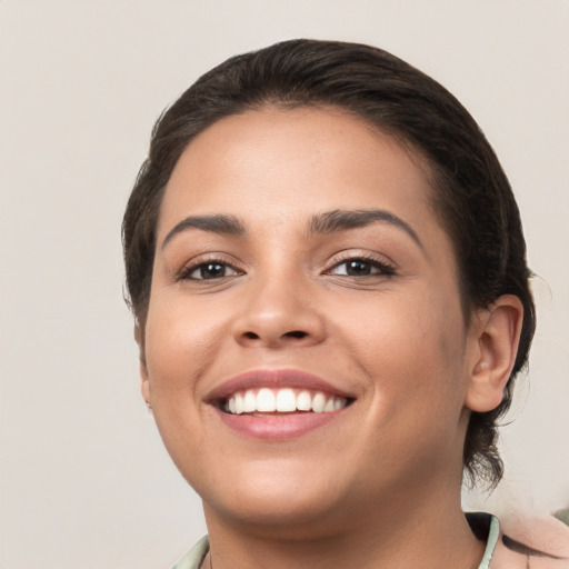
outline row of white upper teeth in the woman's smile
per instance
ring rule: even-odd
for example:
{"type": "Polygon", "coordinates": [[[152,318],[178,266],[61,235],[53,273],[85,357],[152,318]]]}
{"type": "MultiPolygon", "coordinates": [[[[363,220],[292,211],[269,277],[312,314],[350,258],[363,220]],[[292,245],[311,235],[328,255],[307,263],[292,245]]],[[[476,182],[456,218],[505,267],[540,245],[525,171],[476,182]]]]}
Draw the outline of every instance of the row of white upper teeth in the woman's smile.
{"type": "Polygon", "coordinates": [[[338,411],[347,406],[343,397],[327,396],[321,391],[308,390],[295,391],[291,388],[269,389],[261,388],[256,392],[248,389],[232,395],[223,403],[223,410],[231,415],[242,413],[290,413],[295,411],[312,411],[315,413],[328,413],[338,411]]]}

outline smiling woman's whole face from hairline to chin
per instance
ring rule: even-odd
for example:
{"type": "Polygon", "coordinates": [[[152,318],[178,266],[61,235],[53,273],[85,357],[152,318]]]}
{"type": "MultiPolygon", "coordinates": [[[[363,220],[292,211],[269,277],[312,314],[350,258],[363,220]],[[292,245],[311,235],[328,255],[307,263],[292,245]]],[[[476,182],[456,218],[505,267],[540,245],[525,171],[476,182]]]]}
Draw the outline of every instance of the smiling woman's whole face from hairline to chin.
{"type": "Polygon", "coordinates": [[[419,156],[338,110],[229,117],[157,238],[142,391],[207,515],[346,523],[458,487],[477,341],[419,156]]]}

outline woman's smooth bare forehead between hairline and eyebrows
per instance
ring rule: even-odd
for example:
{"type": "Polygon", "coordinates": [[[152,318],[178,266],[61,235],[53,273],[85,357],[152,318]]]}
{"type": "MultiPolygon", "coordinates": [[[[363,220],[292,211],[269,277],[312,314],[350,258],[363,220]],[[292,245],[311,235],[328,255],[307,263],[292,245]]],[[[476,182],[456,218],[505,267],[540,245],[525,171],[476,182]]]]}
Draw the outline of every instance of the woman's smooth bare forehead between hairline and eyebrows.
{"type": "Polygon", "coordinates": [[[159,233],[189,213],[283,222],[378,207],[438,224],[428,179],[418,151],[347,112],[267,107],[222,119],[189,143],[168,182],[159,233]]]}

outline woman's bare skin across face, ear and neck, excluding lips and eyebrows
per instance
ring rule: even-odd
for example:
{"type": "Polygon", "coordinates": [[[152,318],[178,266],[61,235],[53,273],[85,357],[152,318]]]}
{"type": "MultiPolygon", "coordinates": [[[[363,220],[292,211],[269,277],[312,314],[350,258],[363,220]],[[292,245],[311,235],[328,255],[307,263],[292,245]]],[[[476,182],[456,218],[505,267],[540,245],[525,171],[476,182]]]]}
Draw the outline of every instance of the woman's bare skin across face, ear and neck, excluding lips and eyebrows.
{"type": "Polygon", "coordinates": [[[216,569],[478,566],[460,510],[465,433],[471,410],[501,399],[522,309],[501,297],[467,325],[427,171],[335,109],[229,117],[180,158],[138,332],[142,393],[203,500],[216,569]],[[369,209],[416,238],[390,221],[307,231],[322,212],[369,209]],[[213,214],[244,233],[187,227],[162,244],[213,214]],[[350,259],[370,274],[348,274],[350,259]],[[199,279],[208,261],[224,276],[199,279]],[[300,437],[244,437],[208,397],[259,368],[317,375],[353,402],[300,437]]]}

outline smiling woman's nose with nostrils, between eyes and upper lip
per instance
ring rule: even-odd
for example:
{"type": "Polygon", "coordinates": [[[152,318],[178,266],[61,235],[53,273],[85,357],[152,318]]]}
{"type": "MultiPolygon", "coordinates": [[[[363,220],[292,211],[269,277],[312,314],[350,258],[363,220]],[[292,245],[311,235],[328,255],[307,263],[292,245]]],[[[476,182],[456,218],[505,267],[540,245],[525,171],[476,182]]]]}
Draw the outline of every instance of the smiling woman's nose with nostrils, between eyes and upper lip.
{"type": "Polygon", "coordinates": [[[323,317],[301,278],[262,280],[247,288],[233,322],[238,343],[279,349],[323,341],[323,317]]]}

